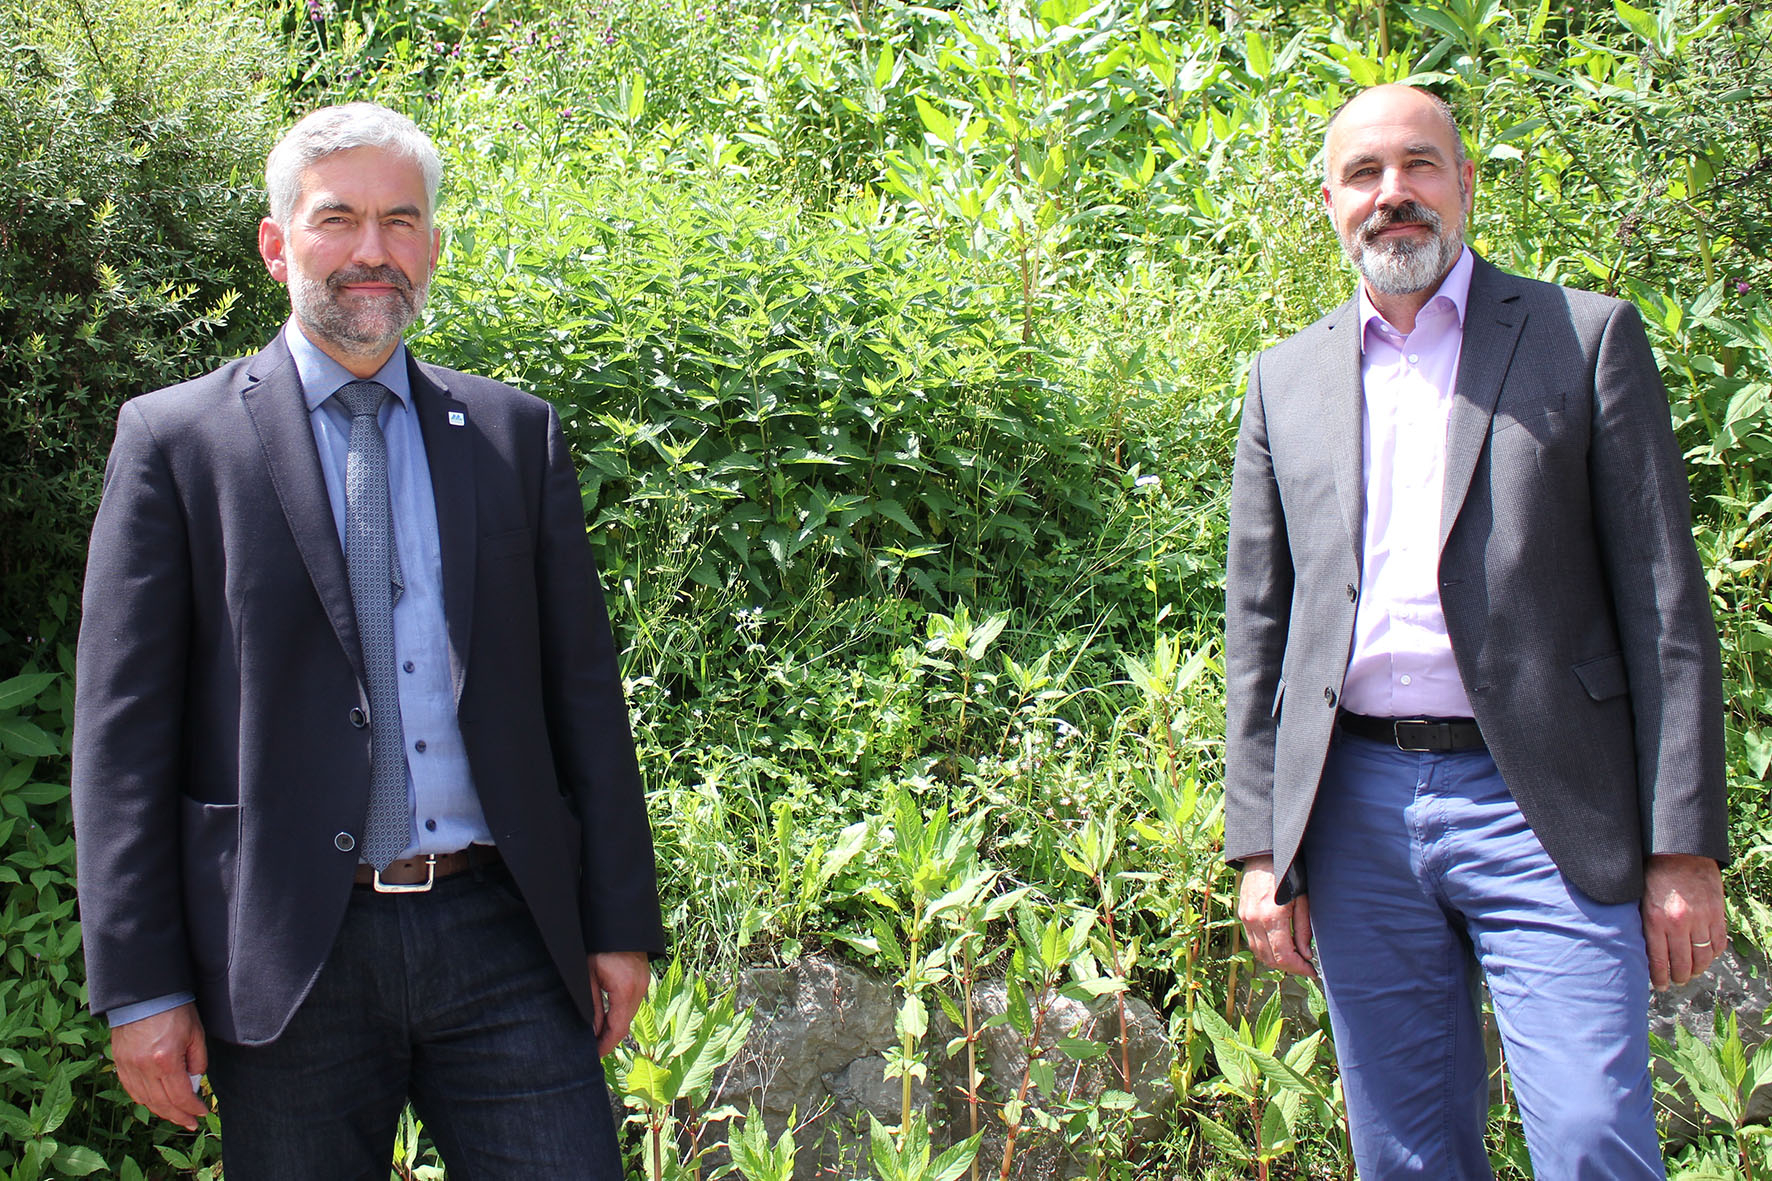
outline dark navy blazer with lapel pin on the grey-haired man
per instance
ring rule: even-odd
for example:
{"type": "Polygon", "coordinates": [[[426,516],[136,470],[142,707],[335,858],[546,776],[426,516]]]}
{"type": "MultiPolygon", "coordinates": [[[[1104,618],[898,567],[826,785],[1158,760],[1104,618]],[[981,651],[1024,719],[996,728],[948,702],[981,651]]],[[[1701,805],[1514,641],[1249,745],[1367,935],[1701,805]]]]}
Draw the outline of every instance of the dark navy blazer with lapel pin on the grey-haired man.
{"type": "MultiPolygon", "coordinates": [[[[546,401],[409,367],[473,782],[588,1020],[587,952],[661,952],[663,929],[578,477],[546,401]]],[[[367,702],[344,553],[282,337],[124,404],[74,706],[94,1011],[191,991],[209,1036],[282,1032],[353,888],[369,731],[351,715],[367,702]]]]}

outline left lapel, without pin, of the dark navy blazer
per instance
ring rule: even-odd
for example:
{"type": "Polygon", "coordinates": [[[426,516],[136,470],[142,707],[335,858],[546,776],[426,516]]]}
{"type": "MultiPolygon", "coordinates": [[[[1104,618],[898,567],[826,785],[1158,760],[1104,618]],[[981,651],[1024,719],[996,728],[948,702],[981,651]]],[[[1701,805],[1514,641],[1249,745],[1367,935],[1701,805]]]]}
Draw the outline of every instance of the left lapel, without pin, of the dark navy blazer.
{"type": "Polygon", "coordinates": [[[314,426],[301,399],[301,376],[282,335],[246,367],[241,401],[259,434],[276,500],[284,509],[284,520],[289,521],[301,562],[308,567],[308,578],[314,580],[314,590],[321,596],[351,669],[356,670],[358,681],[367,684],[344,548],[338,544],[338,527],[326,498],[321,458],[314,449],[314,426]]]}

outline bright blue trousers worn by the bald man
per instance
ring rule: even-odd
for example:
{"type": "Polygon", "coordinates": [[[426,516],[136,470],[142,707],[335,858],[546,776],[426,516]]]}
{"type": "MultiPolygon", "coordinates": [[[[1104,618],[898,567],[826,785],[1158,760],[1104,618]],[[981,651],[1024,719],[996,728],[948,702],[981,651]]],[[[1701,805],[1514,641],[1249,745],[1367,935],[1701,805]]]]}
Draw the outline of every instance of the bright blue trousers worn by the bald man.
{"type": "Polygon", "coordinates": [[[1487,752],[1336,734],[1304,839],[1363,1181],[1488,1181],[1481,968],[1538,1181],[1666,1174],[1636,904],[1570,885],[1487,752]]]}

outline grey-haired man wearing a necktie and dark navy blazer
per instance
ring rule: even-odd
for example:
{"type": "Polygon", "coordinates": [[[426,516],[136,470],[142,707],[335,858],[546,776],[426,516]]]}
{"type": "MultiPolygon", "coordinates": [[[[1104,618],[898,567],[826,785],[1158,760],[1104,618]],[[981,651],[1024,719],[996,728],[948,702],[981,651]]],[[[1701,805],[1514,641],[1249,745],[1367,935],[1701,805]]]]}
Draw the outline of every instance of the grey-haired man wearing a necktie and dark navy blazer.
{"type": "Polygon", "coordinates": [[[229,1177],[618,1177],[599,1052],[663,950],[560,418],[402,344],[441,160],[370,105],[271,153],[262,353],[122,408],[74,825],[117,1071],[229,1177]],[[379,507],[377,507],[379,505],[379,507]],[[377,851],[379,848],[379,851],[377,851]]]}

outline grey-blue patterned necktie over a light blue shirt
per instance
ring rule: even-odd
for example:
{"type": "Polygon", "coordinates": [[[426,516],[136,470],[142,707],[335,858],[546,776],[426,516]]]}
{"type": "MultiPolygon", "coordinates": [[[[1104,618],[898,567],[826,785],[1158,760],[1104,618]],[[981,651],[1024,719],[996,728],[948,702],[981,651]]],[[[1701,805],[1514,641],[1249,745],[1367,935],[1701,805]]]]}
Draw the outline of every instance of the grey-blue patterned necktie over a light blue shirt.
{"type": "Polygon", "coordinates": [[[369,679],[369,814],[363,860],[377,871],[411,844],[406,798],[406,738],[400,729],[399,674],[393,667],[393,601],[400,592],[393,551],[393,511],[388,502],[388,442],[376,415],[388,397],[379,381],[351,381],[333,397],[351,415],[344,465],[344,564],[351,605],[363,644],[369,679]]]}

